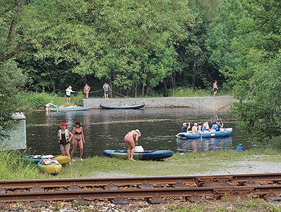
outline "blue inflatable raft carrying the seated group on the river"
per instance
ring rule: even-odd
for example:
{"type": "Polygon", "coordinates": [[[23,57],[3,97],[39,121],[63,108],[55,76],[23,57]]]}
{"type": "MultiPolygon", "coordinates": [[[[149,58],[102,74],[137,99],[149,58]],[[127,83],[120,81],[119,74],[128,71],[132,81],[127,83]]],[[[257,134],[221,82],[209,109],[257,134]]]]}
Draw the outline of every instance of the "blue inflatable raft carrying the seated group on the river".
{"type": "Polygon", "coordinates": [[[221,131],[215,131],[215,132],[208,132],[208,133],[202,133],[200,136],[200,133],[192,134],[192,133],[178,133],[176,135],[177,138],[187,138],[187,139],[198,139],[198,138],[219,138],[219,137],[227,137],[233,132],[233,128],[225,128],[221,131]]]}

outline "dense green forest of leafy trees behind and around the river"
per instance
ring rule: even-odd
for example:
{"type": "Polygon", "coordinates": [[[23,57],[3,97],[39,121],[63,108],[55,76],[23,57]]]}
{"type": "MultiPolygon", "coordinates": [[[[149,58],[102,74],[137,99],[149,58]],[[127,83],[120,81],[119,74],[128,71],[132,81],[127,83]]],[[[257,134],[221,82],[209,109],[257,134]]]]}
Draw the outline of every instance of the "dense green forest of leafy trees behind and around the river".
{"type": "Polygon", "coordinates": [[[218,81],[256,138],[281,134],[281,2],[275,0],[0,0],[0,130],[18,91],[71,85],[120,95],[218,81]]]}

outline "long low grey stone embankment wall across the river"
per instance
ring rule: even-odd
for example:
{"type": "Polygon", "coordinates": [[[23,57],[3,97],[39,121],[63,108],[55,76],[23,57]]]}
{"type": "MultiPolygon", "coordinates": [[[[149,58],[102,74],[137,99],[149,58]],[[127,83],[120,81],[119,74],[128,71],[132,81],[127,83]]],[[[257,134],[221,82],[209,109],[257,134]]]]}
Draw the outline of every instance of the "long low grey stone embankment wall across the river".
{"type": "Polygon", "coordinates": [[[236,100],[233,96],[216,97],[163,97],[163,98],[89,98],[83,99],[84,106],[100,108],[100,103],[111,106],[140,105],[145,107],[190,107],[204,110],[228,110],[236,100]]]}

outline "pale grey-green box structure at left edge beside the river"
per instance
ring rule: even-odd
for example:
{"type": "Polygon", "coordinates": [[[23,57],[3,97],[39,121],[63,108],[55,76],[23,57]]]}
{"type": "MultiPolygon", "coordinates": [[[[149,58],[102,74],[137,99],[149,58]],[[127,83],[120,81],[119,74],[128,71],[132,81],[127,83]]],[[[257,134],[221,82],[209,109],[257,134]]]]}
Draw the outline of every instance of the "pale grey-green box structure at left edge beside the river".
{"type": "Polygon", "coordinates": [[[2,150],[24,150],[27,147],[25,115],[22,112],[16,112],[12,117],[16,121],[15,128],[7,132],[10,137],[1,141],[0,148],[2,150]]]}

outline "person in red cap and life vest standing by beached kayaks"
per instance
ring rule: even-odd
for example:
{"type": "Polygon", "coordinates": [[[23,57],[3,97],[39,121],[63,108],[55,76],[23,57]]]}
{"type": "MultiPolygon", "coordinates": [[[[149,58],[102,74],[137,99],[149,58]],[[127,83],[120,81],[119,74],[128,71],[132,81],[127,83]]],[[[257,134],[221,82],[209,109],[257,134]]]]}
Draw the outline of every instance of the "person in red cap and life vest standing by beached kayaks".
{"type": "MultiPolygon", "coordinates": [[[[66,128],[67,124],[60,124],[60,130],[58,131],[57,138],[60,145],[61,155],[70,158],[70,140],[72,139],[72,133],[66,128]]],[[[71,162],[70,162],[71,164],[71,162]]]]}

